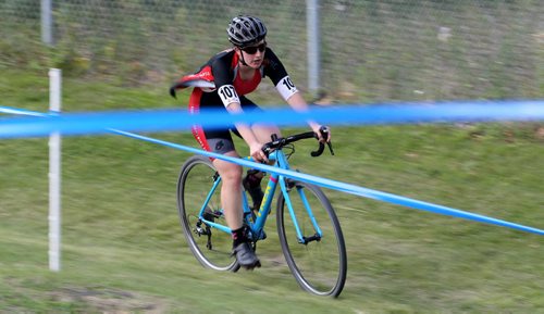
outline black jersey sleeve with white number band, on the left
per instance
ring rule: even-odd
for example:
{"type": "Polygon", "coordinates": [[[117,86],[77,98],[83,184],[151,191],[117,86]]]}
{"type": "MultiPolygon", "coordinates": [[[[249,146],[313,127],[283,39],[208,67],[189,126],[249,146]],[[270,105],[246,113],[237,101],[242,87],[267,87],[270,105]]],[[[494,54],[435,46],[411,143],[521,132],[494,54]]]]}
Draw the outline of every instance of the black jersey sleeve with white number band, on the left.
{"type": "Polygon", "coordinates": [[[232,77],[231,61],[226,56],[227,54],[223,55],[223,58],[218,58],[211,64],[215,88],[224,106],[228,106],[233,102],[239,103],[238,93],[233,86],[234,77],[232,77]]]}

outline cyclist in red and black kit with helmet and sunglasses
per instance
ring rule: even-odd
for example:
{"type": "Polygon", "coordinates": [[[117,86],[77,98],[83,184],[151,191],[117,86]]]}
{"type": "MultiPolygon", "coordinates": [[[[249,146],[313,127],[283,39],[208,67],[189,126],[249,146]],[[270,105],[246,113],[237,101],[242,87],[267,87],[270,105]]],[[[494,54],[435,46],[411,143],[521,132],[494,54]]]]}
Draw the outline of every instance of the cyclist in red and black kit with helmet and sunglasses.
{"type": "MultiPolygon", "coordinates": [[[[194,87],[189,98],[190,113],[196,114],[200,109],[210,108],[222,108],[231,114],[260,112],[262,110],[245,95],[254,91],[264,76],[270,77],[282,98],[293,109],[308,109],[282,62],[268,47],[267,27],[261,20],[247,15],[236,16],[230,22],[226,33],[233,47],[213,55],[195,74],[182,77],[170,90],[175,97],[175,89],[194,87]]],[[[330,136],[329,139],[322,138],[319,131],[321,125],[316,122],[309,122],[309,125],[321,141],[330,140],[330,136]]],[[[237,123],[224,129],[193,127],[193,135],[202,149],[237,158],[239,154],[234,147],[231,131],[246,141],[249,154],[255,161],[263,163],[268,162],[261,150],[263,143],[270,141],[272,134],[281,136],[277,127],[269,124],[237,123]]],[[[260,261],[251,249],[243,225],[242,185],[244,181],[249,189],[254,209],[258,208],[262,200],[262,173],[250,171],[243,180],[240,165],[218,159],[213,160],[213,165],[223,180],[221,204],[226,224],[232,229],[233,254],[240,266],[247,269],[260,267],[260,261]]]]}

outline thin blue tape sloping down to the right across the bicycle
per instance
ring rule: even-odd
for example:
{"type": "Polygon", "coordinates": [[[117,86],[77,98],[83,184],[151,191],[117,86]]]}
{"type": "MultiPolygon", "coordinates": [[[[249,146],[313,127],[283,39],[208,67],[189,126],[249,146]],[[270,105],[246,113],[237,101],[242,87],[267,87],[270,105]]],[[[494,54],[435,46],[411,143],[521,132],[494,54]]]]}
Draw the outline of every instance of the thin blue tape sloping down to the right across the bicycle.
{"type": "MultiPolygon", "coordinates": [[[[48,116],[50,116],[51,118],[58,117],[58,116],[53,116],[53,115],[48,115],[48,116]]],[[[480,222],[480,223],[486,223],[486,224],[491,224],[491,225],[498,225],[498,226],[508,227],[508,228],[522,230],[522,231],[527,231],[527,233],[532,233],[532,234],[536,234],[536,235],[541,235],[541,236],[544,235],[544,230],[533,228],[533,227],[528,227],[528,226],[523,226],[523,225],[519,225],[519,224],[515,224],[515,223],[510,223],[510,222],[506,222],[506,221],[502,221],[502,219],[497,219],[497,218],[492,218],[492,217],[487,217],[484,215],[479,215],[479,214],[474,214],[474,213],[470,213],[470,212],[466,212],[466,211],[461,211],[461,210],[456,210],[456,209],[452,209],[452,208],[447,208],[447,206],[443,206],[443,205],[437,205],[437,204],[433,204],[433,203],[429,203],[429,202],[418,201],[418,200],[413,200],[413,199],[409,199],[409,198],[405,198],[405,197],[400,197],[400,196],[396,196],[396,194],[392,194],[392,193],[387,193],[387,192],[382,192],[382,191],[378,191],[378,190],[362,188],[362,187],[358,187],[358,186],[354,186],[350,184],[345,184],[345,183],[341,183],[341,181],[336,181],[336,180],[332,180],[332,179],[316,177],[312,175],[297,173],[297,172],[293,172],[293,171],[281,169],[281,168],[272,167],[269,165],[243,160],[243,159],[236,159],[236,158],[231,158],[231,156],[226,156],[226,155],[222,155],[222,154],[207,152],[207,151],[202,151],[199,149],[195,149],[195,148],[190,148],[190,147],[186,147],[186,146],[182,146],[182,145],[177,145],[177,143],[172,143],[172,142],[168,142],[168,141],[163,141],[163,140],[159,140],[159,139],[154,139],[154,138],[150,138],[150,137],[146,137],[146,136],[141,136],[141,135],[124,131],[124,130],[108,128],[104,131],[114,133],[118,135],[127,136],[127,137],[132,137],[135,139],[145,140],[145,141],[149,141],[149,142],[153,142],[153,143],[158,143],[158,145],[162,145],[162,146],[166,146],[166,147],[171,147],[171,148],[175,148],[175,149],[180,149],[180,150],[185,150],[188,152],[198,153],[198,154],[202,154],[206,156],[225,160],[225,161],[237,163],[237,164],[240,164],[244,166],[258,168],[258,169],[261,169],[263,172],[276,173],[276,174],[280,174],[280,175],[283,175],[286,177],[290,177],[290,178],[308,181],[308,183],[311,183],[314,185],[319,185],[321,187],[335,189],[335,190],[339,190],[343,192],[348,192],[351,194],[361,196],[364,198],[370,198],[370,199],[374,199],[374,200],[379,200],[379,201],[383,201],[383,202],[398,204],[398,205],[412,208],[412,209],[426,211],[426,212],[432,212],[432,213],[436,213],[436,214],[448,215],[448,216],[465,218],[465,219],[469,219],[469,221],[475,221],[475,222],[480,222]]]]}

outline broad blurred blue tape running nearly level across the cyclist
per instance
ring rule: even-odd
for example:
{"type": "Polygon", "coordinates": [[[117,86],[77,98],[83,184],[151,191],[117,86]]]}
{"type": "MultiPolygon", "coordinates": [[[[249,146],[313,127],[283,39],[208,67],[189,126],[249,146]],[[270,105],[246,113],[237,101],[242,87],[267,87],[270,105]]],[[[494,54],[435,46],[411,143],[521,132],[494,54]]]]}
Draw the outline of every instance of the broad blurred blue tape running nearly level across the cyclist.
{"type": "Polygon", "coordinates": [[[226,114],[224,111],[201,111],[190,115],[184,110],[67,113],[50,120],[17,117],[0,120],[0,138],[49,136],[51,131],[66,135],[100,134],[108,128],[127,131],[164,131],[190,129],[194,124],[221,128],[225,124],[274,123],[300,126],[308,120],[327,125],[374,125],[448,122],[541,121],[544,101],[471,101],[398,105],[341,105],[314,108],[308,112],[270,109],[267,114],[226,114]]]}

